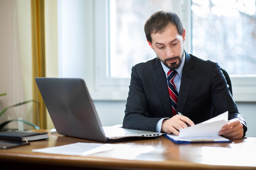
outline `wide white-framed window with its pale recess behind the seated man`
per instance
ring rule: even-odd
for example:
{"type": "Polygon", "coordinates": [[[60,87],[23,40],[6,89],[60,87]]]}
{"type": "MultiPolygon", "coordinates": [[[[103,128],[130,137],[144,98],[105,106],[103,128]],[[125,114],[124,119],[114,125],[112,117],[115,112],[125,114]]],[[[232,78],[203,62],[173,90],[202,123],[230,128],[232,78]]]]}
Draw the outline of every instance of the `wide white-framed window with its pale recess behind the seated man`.
{"type": "Polygon", "coordinates": [[[186,31],[186,51],[193,51],[198,57],[213,57],[226,68],[231,75],[235,101],[256,101],[255,57],[251,55],[255,53],[252,51],[256,41],[255,0],[59,0],[58,3],[58,32],[62,39],[59,40],[60,77],[84,77],[94,100],[126,100],[132,65],[155,57],[146,42],[144,22],[155,11],[170,9],[180,16],[184,28],[190,30],[186,31]],[[226,1],[233,6],[223,4],[226,1]],[[239,5],[234,5],[235,2],[239,5]],[[223,11],[218,13],[222,8],[239,15],[231,15],[230,11],[228,16],[223,11]],[[234,17],[238,17],[235,23],[231,21],[234,17]],[[65,38],[69,37],[76,39],[75,43],[67,43],[65,38]],[[244,75],[238,75],[238,67],[243,68],[244,75]]]}

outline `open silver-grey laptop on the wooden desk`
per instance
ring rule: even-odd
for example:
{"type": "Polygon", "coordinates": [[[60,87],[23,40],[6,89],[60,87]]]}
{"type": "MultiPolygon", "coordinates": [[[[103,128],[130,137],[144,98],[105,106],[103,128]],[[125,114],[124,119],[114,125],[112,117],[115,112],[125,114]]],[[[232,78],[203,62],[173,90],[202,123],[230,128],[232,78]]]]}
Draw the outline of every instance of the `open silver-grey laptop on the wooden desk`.
{"type": "Polygon", "coordinates": [[[36,77],[36,84],[58,134],[101,142],[151,139],[160,132],[102,127],[85,81],[36,77]]]}

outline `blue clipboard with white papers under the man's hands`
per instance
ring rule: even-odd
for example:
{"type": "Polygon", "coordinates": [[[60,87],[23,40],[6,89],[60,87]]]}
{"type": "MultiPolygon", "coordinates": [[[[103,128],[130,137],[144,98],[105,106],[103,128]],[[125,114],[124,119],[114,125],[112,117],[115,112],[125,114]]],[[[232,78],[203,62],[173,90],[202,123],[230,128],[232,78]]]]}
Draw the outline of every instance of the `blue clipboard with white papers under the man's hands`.
{"type": "Polygon", "coordinates": [[[228,111],[195,126],[180,130],[180,135],[166,134],[176,144],[203,143],[203,142],[231,142],[225,137],[218,135],[222,126],[227,124],[228,111]]]}

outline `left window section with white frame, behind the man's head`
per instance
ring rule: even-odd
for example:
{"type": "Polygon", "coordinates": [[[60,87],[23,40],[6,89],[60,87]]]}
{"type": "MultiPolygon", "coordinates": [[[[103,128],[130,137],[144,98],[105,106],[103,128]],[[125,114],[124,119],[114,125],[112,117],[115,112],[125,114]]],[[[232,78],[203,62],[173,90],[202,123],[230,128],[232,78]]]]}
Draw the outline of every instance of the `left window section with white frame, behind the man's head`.
{"type": "MultiPolygon", "coordinates": [[[[96,64],[94,99],[115,96],[126,100],[132,65],[155,57],[144,33],[146,19],[155,11],[164,9],[173,10],[186,20],[189,18],[189,11],[184,11],[184,8],[190,4],[189,2],[188,0],[94,1],[97,11],[94,14],[97,18],[94,26],[95,46],[97,46],[95,57],[96,61],[101,61],[96,64]],[[103,16],[106,16],[105,20],[103,16]],[[98,47],[103,48],[99,50],[98,47]],[[105,95],[100,93],[102,90],[105,95]]],[[[189,26],[187,23],[189,22],[184,23],[184,26],[189,26]]],[[[185,46],[189,49],[189,41],[185,42],[185,46]]]]}

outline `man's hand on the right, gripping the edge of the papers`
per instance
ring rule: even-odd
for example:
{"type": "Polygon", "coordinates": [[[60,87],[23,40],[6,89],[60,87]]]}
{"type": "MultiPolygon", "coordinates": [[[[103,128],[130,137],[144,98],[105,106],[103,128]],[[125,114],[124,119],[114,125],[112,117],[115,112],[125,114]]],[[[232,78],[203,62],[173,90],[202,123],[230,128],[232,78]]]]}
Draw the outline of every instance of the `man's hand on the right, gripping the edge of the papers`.
{"type": "Polygon", "coordinates": [[[238,119],[231,119],[219,132],[228,139],[241,139],[244,135],[243,124],[238,119]]]}

